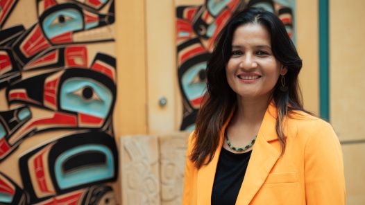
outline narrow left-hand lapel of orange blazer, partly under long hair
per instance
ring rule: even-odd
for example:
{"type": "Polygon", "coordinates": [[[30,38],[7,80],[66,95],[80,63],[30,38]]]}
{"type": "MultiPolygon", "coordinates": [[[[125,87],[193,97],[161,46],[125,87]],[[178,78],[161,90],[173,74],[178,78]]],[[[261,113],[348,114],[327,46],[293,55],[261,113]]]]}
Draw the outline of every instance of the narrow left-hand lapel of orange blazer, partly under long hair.
{"type": "Polygon", "coordinates": [[[199,205],[211,204],[214,177],[217,170],[219,155],[221,154],[224,131],[226,130],[226,127],[228,126],[228,123],[230,122],[230,118],[232,118],[233,113],[234,111],[230,113],[230,116],[228,116],[228,120],[226,121],[226,123],[224,123],[222,127],[222,130],[219,134],[219,145],[217,147],[217,150],[214,152],[214,157],[212,161],[210,161],[210,163],[208,163],[206,166],[202,166],[198,170],[196,189],[198,193],[197,201],[199,205]]]}

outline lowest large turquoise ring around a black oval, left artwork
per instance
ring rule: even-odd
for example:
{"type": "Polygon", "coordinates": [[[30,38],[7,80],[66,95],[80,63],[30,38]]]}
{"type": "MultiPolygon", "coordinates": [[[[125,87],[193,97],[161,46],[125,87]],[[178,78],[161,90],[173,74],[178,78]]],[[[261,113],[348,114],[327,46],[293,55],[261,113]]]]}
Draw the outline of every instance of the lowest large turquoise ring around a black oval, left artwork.
{"type": "Polygon", "coordinates": [[[71,188],[94,181],[110,179],[114,176],[114,160],[110,149],[103,145],[82,145],[60,154],[55,163],[56,181],[60,188],[71,188]],[[106,157],[106,163],[99,166],[83,167],[69,173],[62,172],[62,164],[70,157],[83,152],[101,152],[106,157]]]}

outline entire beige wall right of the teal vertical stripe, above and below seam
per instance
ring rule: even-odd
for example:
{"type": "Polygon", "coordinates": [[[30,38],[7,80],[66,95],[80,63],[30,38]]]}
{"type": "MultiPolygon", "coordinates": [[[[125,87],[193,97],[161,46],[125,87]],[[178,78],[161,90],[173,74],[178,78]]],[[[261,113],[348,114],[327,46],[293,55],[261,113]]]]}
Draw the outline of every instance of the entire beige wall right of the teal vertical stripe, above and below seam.
{"type": "Polygon", "coordinates": [[[330,121],[343,142],[348,204],[365,204],[364,8],[330,1],[330,121]]]}

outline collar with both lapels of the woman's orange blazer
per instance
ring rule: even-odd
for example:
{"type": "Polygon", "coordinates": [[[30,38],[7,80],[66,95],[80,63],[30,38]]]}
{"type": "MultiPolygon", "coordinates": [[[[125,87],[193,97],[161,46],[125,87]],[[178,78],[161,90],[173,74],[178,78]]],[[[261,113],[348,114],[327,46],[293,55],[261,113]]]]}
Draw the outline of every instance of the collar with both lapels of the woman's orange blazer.
{"type": "MultiPolygon", "coordinates": [[[[197,201],[198,204],[211,204],[212,188],[214,183],[215,172],[221,147],[224,139],[224,132],[233,112],[230,114],[228,120],[223,125],[220,132],[219,146],[217,147],[214,157],[210,163],[201,167],[198,170],[197,176],[197,201]]],[[[271,102],[266,109],[264,119],[257,133],[251,159],[248,162],[246,175],[239,190],[236,204],[249,204],[257,191],[260,189],[264,180],[275,162],[280,157],[280,150],[275,149],[269,142],[278,140],[278,135],[275,132],[276,108],[271,102]]]]}

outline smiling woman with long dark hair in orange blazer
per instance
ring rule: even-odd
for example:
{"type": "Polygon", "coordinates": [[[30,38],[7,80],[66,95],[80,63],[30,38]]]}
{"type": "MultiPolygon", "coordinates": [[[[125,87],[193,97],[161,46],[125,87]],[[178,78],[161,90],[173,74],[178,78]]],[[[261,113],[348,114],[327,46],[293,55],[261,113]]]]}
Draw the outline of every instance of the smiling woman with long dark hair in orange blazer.
{"type": "Polygon", "coordinates": [[[301,66],[271,12],[228,21],[207,64],[182,204],[345,204],[341,145],[304,111],[301,66]]]}

